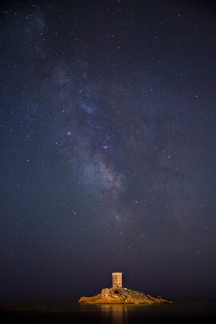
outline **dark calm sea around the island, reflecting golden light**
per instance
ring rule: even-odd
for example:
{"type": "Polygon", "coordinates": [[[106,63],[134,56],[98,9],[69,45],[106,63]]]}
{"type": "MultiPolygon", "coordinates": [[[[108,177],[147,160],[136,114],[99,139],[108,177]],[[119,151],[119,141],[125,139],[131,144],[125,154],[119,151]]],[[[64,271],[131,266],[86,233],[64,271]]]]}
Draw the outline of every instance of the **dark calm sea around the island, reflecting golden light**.
{"type": "Polygon", "coordinates": [[[141,324],[216,323],[215,301],[176,301],[172,304],[79,305],[74,301],[0,303],[2,323],[141,324]]]}

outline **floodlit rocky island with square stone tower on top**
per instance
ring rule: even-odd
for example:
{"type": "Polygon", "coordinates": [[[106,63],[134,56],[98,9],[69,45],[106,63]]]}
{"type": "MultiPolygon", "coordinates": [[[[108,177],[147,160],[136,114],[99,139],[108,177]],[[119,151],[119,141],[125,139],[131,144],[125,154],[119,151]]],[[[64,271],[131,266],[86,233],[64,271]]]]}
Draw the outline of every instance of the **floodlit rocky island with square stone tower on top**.
{"type": "Polygon", "coordinates": [[[113,272],[113,288],[102,289],[101,294],[81,297],[80,304],[152,304],[172,303],[161,296],[150,296],[138,291],[122,288],[122,272],[113,272]]]}

